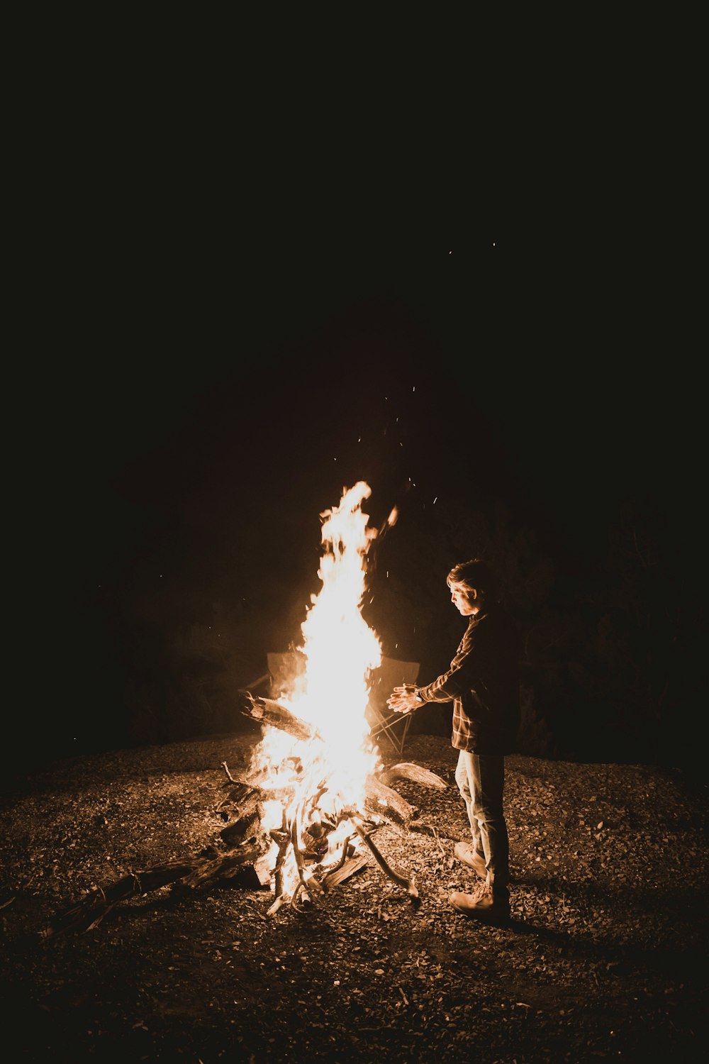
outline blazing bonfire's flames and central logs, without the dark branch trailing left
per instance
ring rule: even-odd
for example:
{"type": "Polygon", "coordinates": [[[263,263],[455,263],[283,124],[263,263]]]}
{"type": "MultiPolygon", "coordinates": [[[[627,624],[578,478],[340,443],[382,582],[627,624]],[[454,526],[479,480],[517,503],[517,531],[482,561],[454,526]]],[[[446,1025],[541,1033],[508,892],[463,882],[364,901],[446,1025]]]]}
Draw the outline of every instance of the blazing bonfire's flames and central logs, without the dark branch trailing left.
{"type": "MultiPolygon", "coordinates": [[[[357,852],[361,844],[418,898],[413,877],[388,865],[371,836],[392,818],[408,830],[415,825],[415,810],[388,786],[394,779],[445,786],[408,763],[383,776],[368,722],[371,677],[382,662],[379,639],[361,613],[367,554],[377,535],[361,510],[370,494],[359,481],[321,515],[322,587],[302,625],[301,668],[290,685],[276,700],[244,693],[242,711],[265,728],[246,785],[258,788],[260,826],[272,841],[260,862],[273,867],[270,912],[284,900],[313,901],[357,870],[367,860],[357,852]]],[[[237,805],[247,794],[235,793],[237,805]]]]}

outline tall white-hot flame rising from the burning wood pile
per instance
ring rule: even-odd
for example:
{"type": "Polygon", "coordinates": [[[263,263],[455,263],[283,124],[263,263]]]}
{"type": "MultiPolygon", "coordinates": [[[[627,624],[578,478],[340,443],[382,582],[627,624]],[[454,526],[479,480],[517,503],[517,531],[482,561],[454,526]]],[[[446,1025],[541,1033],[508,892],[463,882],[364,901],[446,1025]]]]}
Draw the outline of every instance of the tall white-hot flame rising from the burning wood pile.
{"type": "MultiPolygon", "coordinates": [[[[255,766],[267,769],[261,786],[267,793],[270,786],[281,793],[289,788],[292,795],[289,801],[280,797],[266,803],[267,830],[296,820],[300,832],[319,812],[336,817],[347,808],[360,808],[367,776],[378,767],[366,711],[370,677],[382,663],[382,647],[361,615],[367,551],[376,535],[361,511],[370,494],[369,485],[359,481],[344,489],[338,506],[321,514],[323,552],[318,576],[322,587],[311,597],[301,626],[299,650],[305,671],[292,689],[275,696],[317,734],[303,742],[276,728],[266,729],[254,753],[255,766]]],[[[331,851],[347,834],[344,825],[332,832],[331,851]]],[[[291,867],[288,879],[296,878],[291,867]]]]}

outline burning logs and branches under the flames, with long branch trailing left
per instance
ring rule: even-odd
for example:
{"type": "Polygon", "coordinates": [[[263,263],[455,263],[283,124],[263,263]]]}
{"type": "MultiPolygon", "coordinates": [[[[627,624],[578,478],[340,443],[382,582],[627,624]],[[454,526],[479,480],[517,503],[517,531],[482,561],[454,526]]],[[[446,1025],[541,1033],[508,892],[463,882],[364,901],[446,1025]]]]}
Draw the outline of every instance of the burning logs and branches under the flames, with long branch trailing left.
{"type": "MultiPolygon", "coordinates": [[[[239,709],[252,720],[277,728],[296,738],[318,738],[310,725],[271,699],[257,698],[244,692],[239,709]]],[[[391,786],[401,779],[445,789],[448,784],[435,772],[411,762],[392,765],[376,776],[367,777],[364,809],[343,805],[333,814],[323,811],[320,804],[327,789],[324,784],[316,787],[306,798],[296,800],[296,786],[278,791],[269,785],[272,781],[266,768],[248,774],[244,780],[237,780],[226,762],[222,762],[222,767],[226,774],[223,784],[225,794],[217,803],[216,812],[225,826],[212,844],[192,857],[130,872],[105,887],[91,891],[78,903],[52,916],[31,937],[46,940],[68,930],[88,930],[119,902],[169,884],[173,892],[183,894],[224,881],[247,890],[269,886],[274,893],[269,914],[275,913],[285,902],[301,911],[303,904],[317,903],[368,863],[368,853],[362,852],[362,847],[391,880],[418,901],[415,877],[389,864],[372,835],[387,825],[401,832],[418,831],[436,835],[435,828],[419,819],[418,809],[391,786]],[[267,829],[264,826],[264,805],[274,798],[282,803],[282,822],[276,828],[267,829]],[[340,826],[347,830],[333,861],[328,836],[340,826]],[[275,860],[272,857],[274,844],[275,860]],[[284,877],[288,861],[291,867],[294,861],[297,869],[297,883],[292,890],[287,888],[284,877]]],[[[302,768],[296,759],[290,765],[290,778],[297,781],[302,768]]]]}

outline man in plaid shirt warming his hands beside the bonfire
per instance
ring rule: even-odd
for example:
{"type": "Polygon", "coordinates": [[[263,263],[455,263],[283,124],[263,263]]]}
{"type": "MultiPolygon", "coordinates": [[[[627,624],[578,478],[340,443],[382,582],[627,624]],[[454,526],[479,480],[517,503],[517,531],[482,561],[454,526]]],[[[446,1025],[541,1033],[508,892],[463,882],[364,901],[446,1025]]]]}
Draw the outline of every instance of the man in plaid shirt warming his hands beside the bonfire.
{"type": "Polygon", "coordinates": [[[509,917],[509,842],[503,809],[505,754],[514,749],[520,722],[519,643],[495,581],[478,559],[455,565],[446,577],[453,604],[468,628],[450,668],[425,687],[394,687],[388,705],[410,713],[424,702],[453,702],[455,779],[466,803],[472,841],[455,854],[479,877],[470,894],[450,902],[466,916],[509,917]]]}

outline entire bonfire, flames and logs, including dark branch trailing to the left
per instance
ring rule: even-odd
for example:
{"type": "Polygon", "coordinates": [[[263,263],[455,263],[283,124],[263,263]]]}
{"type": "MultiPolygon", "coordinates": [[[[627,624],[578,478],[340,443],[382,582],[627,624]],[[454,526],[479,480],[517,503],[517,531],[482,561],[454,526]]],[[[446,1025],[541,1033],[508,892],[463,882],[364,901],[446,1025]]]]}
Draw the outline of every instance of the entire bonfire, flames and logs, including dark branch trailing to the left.
{"type": "MultiPolygon", "coordinates": [[[[218,838],[198,854],[92,891],[45,924],[40,937],[95,927],[119,901],[167,884],[183,892],[224,880],[269,887],[269,914],[284,903],[301,911],[359,870],[369,854],[418,901],[415,877],[391,866],[372,835],[383,825],[435,835],[391,784],[448,784],[409,762],[385,769],[377,728],[368,719],[372,675],[382,661],[379,639],[361,613],[367,555],[382,531],[361,510],[370,494],[360,481],[321,514],[322,587],[301,627],[293,654],[299,667],[276,698],[240,692],[238,709],[260,722],[263,734],[243,779],[222,762],[226,793],[216,813],[226,824],[218,838]]],[[[394,520],[392,511],[387,523],[394,520]]]]}

